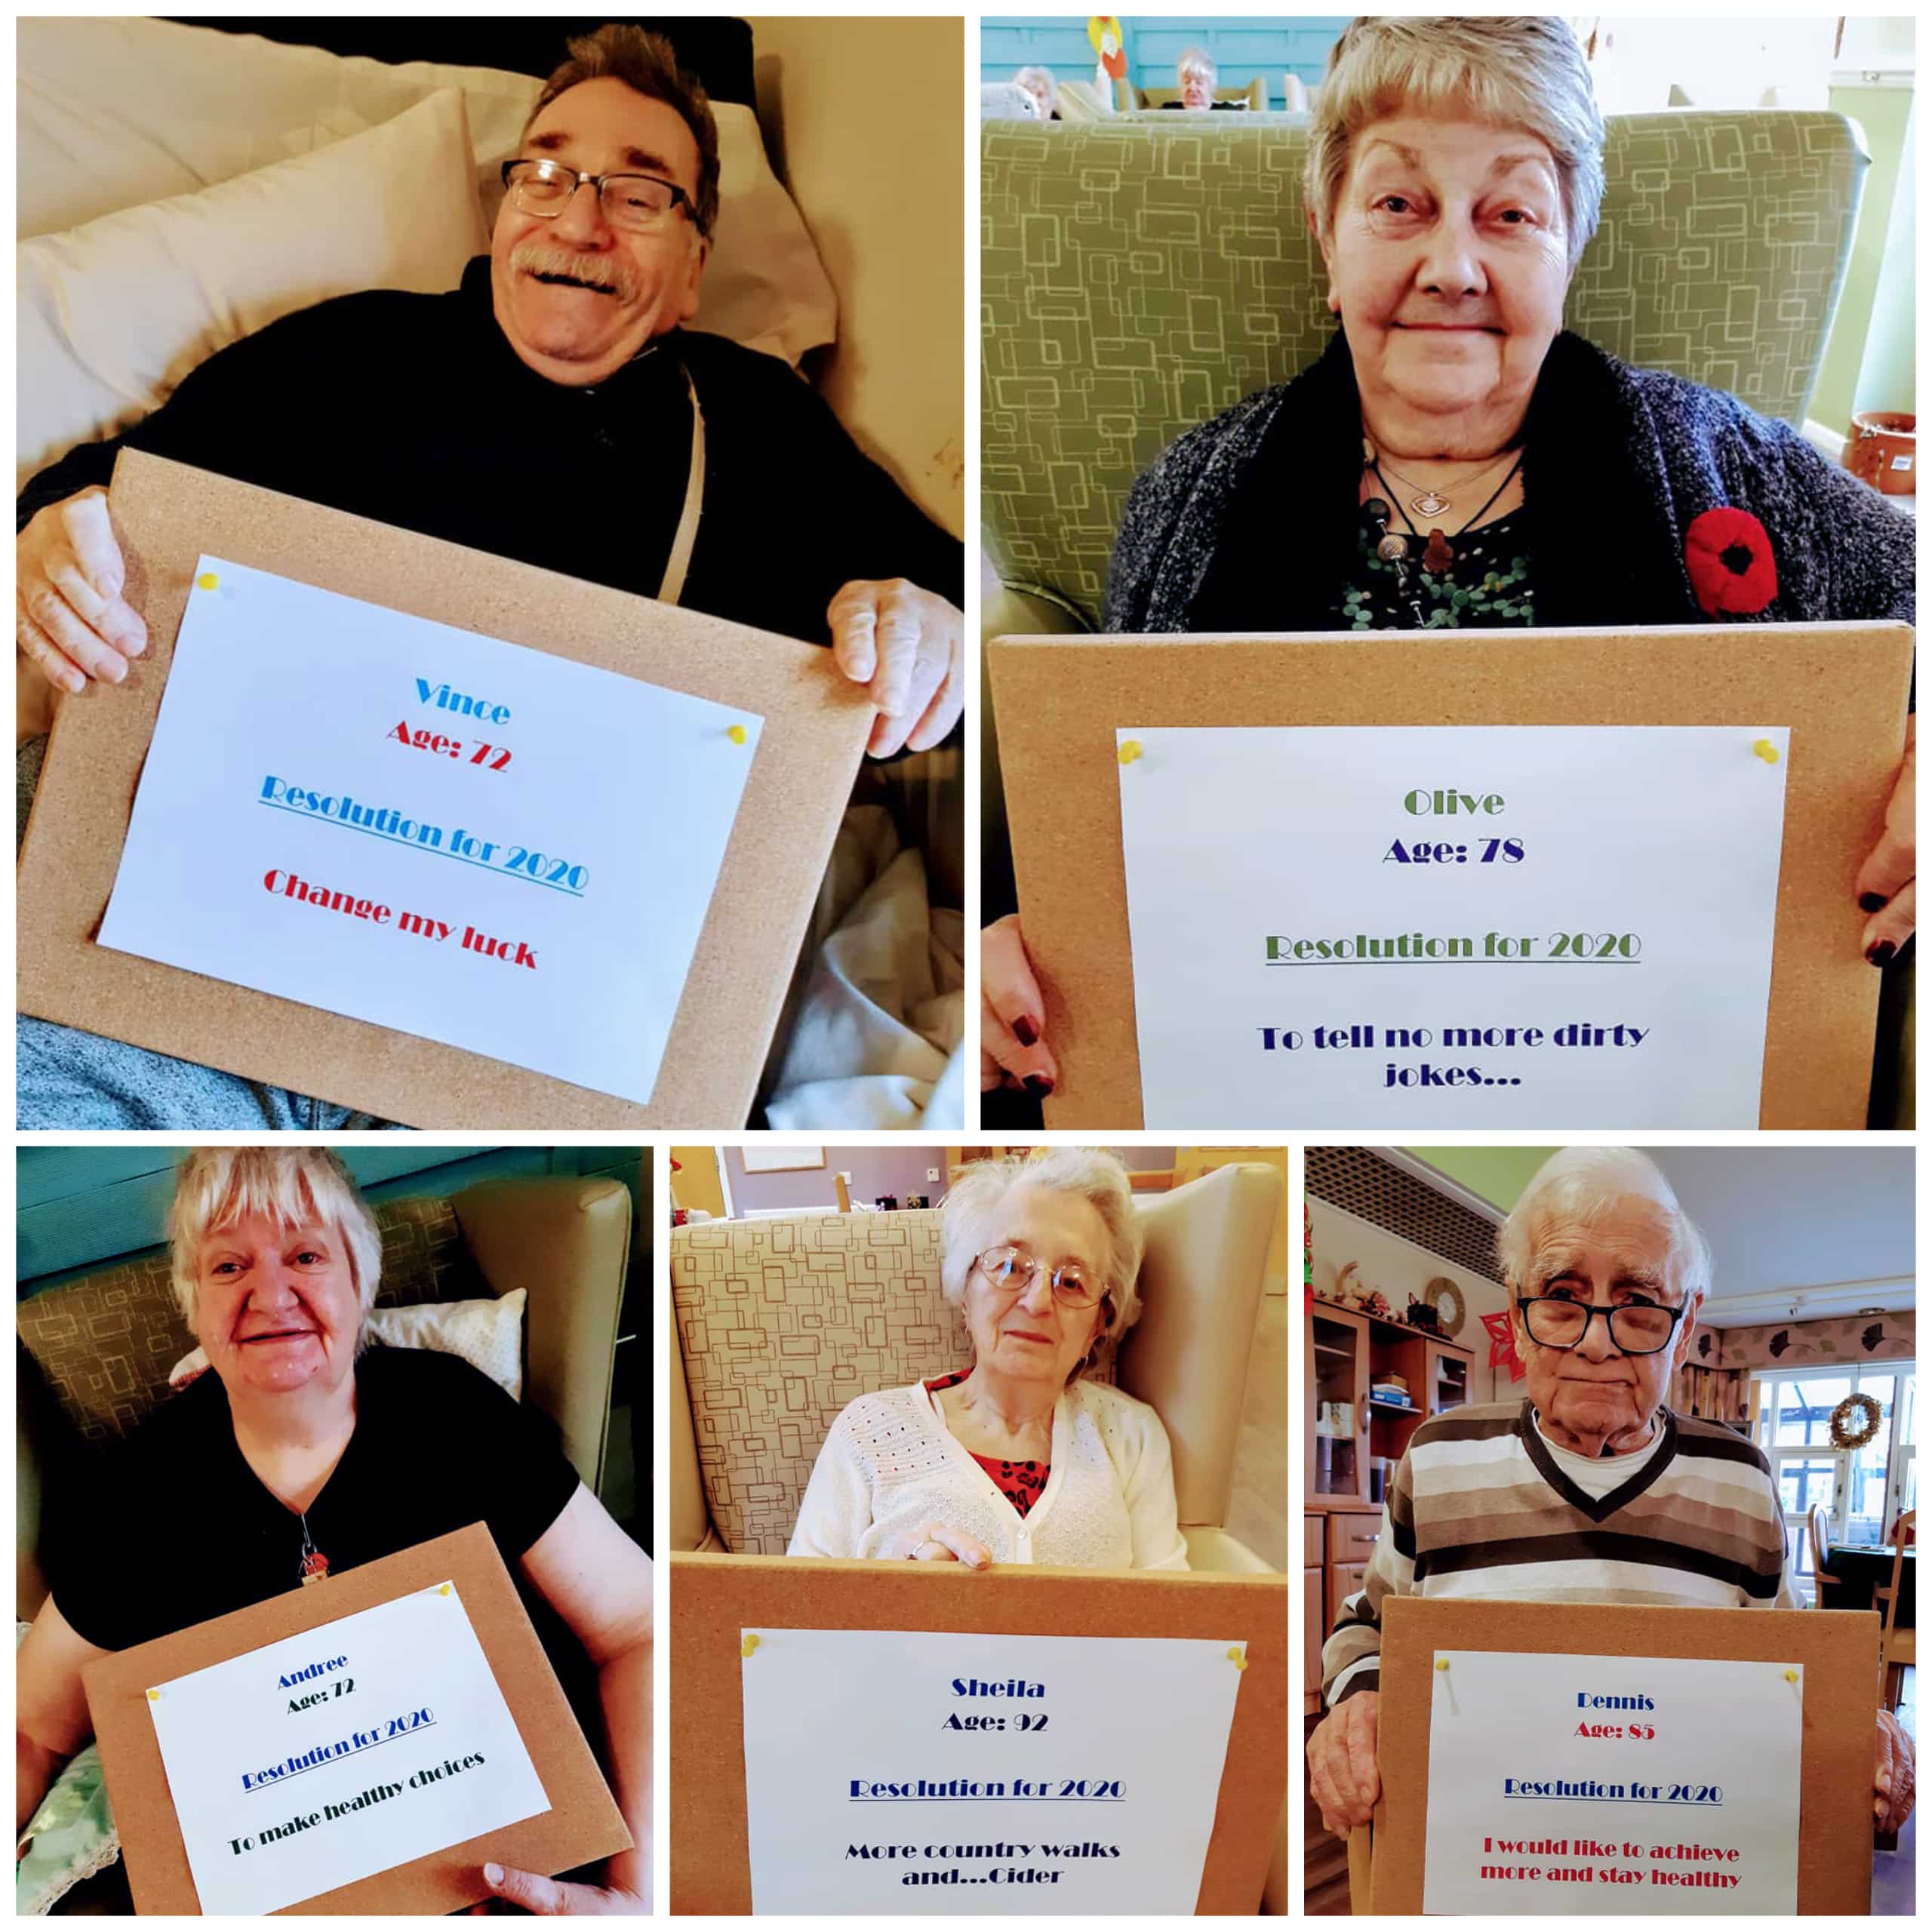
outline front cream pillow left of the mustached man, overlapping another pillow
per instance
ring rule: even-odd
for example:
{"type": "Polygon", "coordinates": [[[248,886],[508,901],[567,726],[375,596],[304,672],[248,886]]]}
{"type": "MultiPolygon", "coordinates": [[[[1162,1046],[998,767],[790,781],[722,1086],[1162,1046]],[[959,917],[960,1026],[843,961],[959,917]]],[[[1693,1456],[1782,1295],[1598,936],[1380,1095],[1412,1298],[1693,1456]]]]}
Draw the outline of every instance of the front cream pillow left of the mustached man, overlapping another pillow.
{"type": "Polygon", "coordinates": [[[278,317],[365,288],[450,290],[485,245],[454,89],[298,160],[23,242],[15,489],[278,317]]]}

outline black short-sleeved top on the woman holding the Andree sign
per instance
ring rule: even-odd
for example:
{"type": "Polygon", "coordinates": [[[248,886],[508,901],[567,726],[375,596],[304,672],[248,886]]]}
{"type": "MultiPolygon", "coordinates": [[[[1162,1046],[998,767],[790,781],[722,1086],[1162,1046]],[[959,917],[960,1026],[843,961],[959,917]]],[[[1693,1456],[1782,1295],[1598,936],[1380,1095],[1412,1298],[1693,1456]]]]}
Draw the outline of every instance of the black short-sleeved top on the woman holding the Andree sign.
{"type": "MultiPolygon", "coordinates": [[[[60,1613],[100,1650],[301,1588],[301,1519],[242,1459],[214,1374],[170,1397],[83,1484],[58,1488],[43,1563],[60,1613]]],[[[487,1524],[568,1685],[582,1650],[518,1557],[576,1488],[554,1430],[481,1370],[425,1349],[371,1349],[355,1364],[355,1432],[307,1524],[332,1577],[487,1524]]]]}

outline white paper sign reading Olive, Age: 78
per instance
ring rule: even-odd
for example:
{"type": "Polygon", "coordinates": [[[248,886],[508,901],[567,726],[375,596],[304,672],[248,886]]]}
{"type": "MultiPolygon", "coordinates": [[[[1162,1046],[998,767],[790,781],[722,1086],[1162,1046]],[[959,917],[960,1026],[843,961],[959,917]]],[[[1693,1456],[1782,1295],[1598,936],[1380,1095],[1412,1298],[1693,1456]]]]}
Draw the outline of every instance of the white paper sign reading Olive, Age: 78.
{"type": "Polygon", "coordinates": [[[1148,1126],[1758,1124],[1783,726],[1119,740],[1148,1126]]]}

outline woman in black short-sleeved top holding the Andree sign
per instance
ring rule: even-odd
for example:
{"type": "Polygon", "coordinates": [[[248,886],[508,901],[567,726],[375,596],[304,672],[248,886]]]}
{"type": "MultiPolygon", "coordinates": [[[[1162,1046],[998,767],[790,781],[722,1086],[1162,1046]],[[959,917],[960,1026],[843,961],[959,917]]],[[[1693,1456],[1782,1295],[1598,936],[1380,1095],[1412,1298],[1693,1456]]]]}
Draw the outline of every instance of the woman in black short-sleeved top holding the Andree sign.
{"type": "Polygon", "coordinates": [[[566,1689],[593,1673],[636,1839],[595,1882],[495,1864],[483,1882],[539,1913],[649,1911],[649,1557],[479,1370],[365,1349],[383,1244],[328,1150],[191,1151],[168,1242],[211,1374],[48,1511],[52,1592],[17,1654],[17,1826],[87,1743],[91,1660],[483,1522],[566,1689]]]}

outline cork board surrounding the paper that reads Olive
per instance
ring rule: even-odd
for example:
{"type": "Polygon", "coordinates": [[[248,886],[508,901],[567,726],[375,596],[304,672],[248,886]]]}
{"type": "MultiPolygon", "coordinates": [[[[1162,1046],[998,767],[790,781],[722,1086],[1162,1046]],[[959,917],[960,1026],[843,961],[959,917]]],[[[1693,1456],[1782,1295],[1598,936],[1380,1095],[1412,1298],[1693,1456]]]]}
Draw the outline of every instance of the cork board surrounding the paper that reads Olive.
{"type": "Polygon", "coordinates": [[[1907,626],[1862,622],[993,639],[1020,923],[1061,1072],[1047,1126],[1161,1124],[1142,1119],[1117,730],[1739,721],[1791,726],[1758,1124],[1864,1126],[1878,974],[1853,881],[1903,753],[1911,661],[1907,626]]]}

